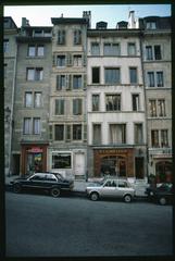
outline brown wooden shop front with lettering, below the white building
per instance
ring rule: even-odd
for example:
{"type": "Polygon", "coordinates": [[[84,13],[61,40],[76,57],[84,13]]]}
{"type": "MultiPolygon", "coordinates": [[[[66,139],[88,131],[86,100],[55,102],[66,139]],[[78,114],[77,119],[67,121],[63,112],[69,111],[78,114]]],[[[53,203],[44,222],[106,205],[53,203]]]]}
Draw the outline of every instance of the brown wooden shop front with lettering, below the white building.
{"type": "Polygon", "coordinates": [[[95,149],[93,160],[95,177],[135,177],[133,148],[95,149]]]}

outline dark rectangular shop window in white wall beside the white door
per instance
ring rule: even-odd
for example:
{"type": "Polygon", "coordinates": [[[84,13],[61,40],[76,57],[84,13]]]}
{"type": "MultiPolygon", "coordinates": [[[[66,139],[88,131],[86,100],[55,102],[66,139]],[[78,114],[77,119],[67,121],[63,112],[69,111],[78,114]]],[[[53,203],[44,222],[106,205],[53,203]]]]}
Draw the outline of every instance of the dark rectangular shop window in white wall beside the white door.
{"type": "Polygon", "coordinates": [[[72,157],[71,153],[52,153],[52,169],[71,169],[72,167],[72,157]]]}

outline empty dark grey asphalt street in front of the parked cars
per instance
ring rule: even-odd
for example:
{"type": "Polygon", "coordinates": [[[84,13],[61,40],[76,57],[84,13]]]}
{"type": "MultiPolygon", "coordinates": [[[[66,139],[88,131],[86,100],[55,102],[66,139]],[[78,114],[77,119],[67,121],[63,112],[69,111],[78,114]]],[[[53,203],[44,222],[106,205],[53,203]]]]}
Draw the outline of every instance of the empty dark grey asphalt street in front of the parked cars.
{"type": "Polygon", "coordinates": [[[7,257],[173,254],[173,209],[5,192],[7,257]]]}

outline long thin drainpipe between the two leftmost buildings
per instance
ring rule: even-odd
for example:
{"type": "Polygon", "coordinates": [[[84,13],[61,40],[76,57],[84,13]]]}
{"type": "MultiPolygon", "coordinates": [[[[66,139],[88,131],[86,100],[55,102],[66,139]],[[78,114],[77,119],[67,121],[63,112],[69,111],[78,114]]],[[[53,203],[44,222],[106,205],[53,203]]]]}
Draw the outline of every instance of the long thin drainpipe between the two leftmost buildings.
{"type": "Polygon", "coordinates": [[[12,174],[12,135],[13,135],[13,111],[14,111],[14,88],[15,88],[15,79],[16,79],[16,64],[17,64],[17,44],[15,49],[14,57],[14,70],[13,70],[13,85],[12,85],[12,100],[11,100],[11,114],[10,114],[10,141],[9,141],[9,176],[12,174]]]}

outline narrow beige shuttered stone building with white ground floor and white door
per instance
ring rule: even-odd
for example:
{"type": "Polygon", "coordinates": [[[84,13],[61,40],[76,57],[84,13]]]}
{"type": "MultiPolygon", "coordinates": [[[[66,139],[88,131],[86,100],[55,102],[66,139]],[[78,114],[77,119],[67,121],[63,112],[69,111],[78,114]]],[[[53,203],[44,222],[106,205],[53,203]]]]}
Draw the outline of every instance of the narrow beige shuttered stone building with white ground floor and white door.
{"type": "Polygon", "coordinates": [[[90,12],[52,17],[48,167],[71,177],[87,171],[86,53],[90,12]]]}

